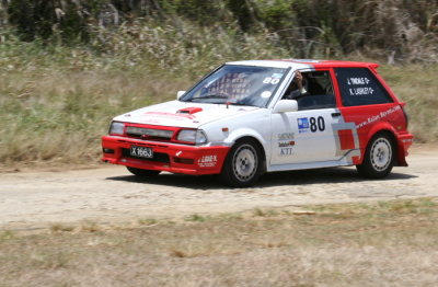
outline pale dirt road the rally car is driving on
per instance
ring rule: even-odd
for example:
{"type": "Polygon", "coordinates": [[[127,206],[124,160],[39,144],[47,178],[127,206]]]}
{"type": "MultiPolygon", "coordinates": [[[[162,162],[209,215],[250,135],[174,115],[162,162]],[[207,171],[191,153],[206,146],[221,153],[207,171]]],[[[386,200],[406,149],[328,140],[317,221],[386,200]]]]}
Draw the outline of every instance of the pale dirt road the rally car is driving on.
{"type": "Polygon", "coordinates": [[[395,168],[383,181],[360,179],[354,168],[335,168],[267,174],[255,187],[238,190],[226,188],[215,176],[168,173],[142,181],[124,167],[0,173],[0,228],[438,196],[438,149],[414,147],[408,162],[410,168],[395,168]]]}

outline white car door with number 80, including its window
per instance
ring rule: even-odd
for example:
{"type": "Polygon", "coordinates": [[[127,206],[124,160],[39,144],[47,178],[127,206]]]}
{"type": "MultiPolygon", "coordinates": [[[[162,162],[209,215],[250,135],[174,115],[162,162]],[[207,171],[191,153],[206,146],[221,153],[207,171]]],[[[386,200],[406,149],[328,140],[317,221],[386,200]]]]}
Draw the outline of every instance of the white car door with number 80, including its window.
{"type": "Polygon", "coordinates": [[[302,71],[302,74],[308,79],[309,94],[297,100],[299,111],[272,114],[270,165],[341,158],[335,134],[342,116],[336,108],[332,73],[321,70],[302,71]]]}

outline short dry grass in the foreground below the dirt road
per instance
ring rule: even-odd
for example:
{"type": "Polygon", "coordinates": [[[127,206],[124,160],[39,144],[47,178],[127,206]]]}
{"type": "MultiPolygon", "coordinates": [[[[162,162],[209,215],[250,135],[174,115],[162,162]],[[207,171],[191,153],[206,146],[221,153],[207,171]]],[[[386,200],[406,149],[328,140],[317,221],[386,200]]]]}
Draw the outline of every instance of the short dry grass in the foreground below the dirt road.
{"type": "Polygon", "coordinates": [[[4,231],[4,286],[435,286],[436,199],[4,231]],[[312,211],[312,213],[310,213],[312,211]],[[150,223],[153,225],[151,226],[150,223]]]}

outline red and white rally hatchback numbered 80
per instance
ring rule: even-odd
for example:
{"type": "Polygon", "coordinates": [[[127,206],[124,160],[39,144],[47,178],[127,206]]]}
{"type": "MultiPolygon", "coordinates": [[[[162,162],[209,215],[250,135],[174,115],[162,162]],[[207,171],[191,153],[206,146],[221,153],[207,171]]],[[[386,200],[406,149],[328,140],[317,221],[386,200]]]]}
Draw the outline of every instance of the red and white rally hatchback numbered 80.
{"type": "Polygon", "coordinates": [[[250,186],[265,172],[356,165],[387,176],[407,167],[405,103],[379,65],[249,60],[212,70],[176,100],[113,119],[103,161],[138,176],[220,174],[250,186]]]}

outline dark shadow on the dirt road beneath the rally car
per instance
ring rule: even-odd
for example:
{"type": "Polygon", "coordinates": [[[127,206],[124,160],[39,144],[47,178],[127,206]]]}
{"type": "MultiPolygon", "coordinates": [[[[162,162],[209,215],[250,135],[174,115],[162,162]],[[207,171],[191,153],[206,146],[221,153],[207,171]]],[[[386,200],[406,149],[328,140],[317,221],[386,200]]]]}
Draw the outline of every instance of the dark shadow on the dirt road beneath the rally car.
{"type": "MultiPolygon", "coordinates": [[[[370,181],[394,181],[410,180],[416,175],[392,172],[383,180],[369,180],[358,175],[354,168],[327,168],[301,171],[273,172],[261,176],[258,182],[252,186],[254,188],[275,187],[284,185],[313,185],[313,184],[333,184],[333,183],[355,183],[370,181]]],[[[174,187],[184,187],[193,190],[234,190],[221,183],[218,175],[185,175],[164,173],[152,177],[138,177],[135,175],[120,175],[106,177],[108,181],[122,181],[131,183],[150,183],[158,185],[168,185],[174,187]]]]}

